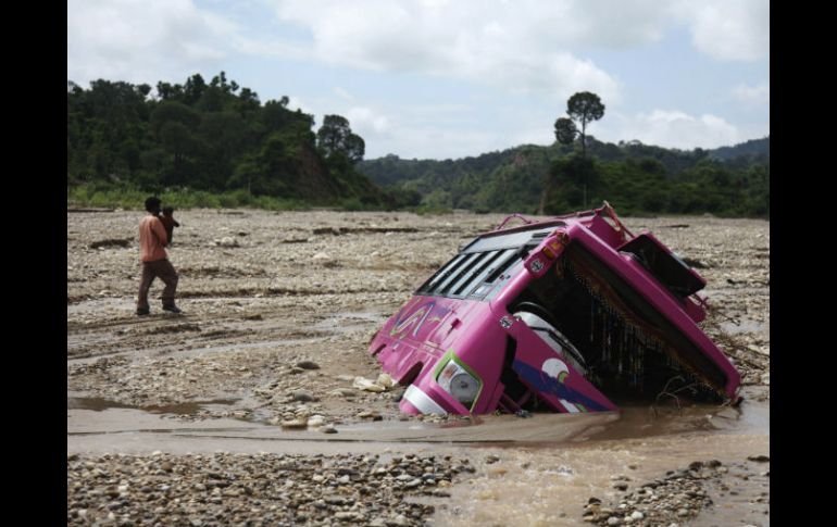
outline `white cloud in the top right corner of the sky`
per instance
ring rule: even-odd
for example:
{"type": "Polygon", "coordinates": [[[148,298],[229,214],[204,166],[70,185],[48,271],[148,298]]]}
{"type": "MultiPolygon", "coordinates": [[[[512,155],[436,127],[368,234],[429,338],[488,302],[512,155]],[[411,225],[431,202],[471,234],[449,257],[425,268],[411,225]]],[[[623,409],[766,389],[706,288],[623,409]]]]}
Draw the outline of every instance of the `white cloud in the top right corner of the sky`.
{"type": "Polygon", "coordinates": [[[685,20],[698,50],[724,61],[770,54],[769,0],[678,0],[672,13],[685,20]]]}

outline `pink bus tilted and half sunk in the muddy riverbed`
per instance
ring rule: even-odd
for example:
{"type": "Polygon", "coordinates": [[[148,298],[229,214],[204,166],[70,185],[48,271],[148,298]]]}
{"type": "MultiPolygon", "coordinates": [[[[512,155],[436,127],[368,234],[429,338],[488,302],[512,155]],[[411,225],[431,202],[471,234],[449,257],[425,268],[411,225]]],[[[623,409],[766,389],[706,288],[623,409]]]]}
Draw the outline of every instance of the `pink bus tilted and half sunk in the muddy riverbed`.
{"type": "MultiPolygon", "coordinates": [[[[504,228],[519,217],[525,225],[504,228]]],[[[373,337],[409,414],[616,410],[610,398],[738,401],[698,327],[705,280],[600,209],[477,237],[373,337]],[[605,397],[605,393],[608,394],[605,397]]]]}

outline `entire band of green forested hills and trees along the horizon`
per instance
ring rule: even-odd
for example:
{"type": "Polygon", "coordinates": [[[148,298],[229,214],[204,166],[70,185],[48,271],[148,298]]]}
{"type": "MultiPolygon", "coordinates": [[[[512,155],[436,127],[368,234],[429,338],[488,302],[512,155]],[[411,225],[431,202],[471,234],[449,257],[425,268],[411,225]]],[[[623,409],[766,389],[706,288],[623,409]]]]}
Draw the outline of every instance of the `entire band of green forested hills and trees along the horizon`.
{"type": "Polygon", "coordinates": [[[314,131],[312,115],[287,105],[260,102],[223,72],[155,90],[68,81],[67,203],[135,208],[164,193],[178,208],[549,214],[608,200],[623,213],[770,216],[770,137],[690,151],[604,143],[586,131],[604,113],[595,93],[567,101],[549,147],[455,161],[363,161],[365,142],[346,118],[326,115],[314,131]]]}

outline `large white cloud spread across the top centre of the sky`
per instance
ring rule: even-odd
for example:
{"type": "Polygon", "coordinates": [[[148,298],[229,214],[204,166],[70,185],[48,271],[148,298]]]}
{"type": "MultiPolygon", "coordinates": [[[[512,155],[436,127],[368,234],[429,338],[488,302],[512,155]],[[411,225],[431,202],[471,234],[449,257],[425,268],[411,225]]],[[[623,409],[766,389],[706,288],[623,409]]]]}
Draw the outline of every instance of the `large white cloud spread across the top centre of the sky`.
{"type": "Polygon", "coordinates": [[[363,9],[339,0],[287,0],[275,5],[283,23],[310,32],[313,61],[460,78],[559,99],[589,90],[609,101],[619,97],[617,80],[572,48],[653,41],[662,16],[650,0],[617,5],[368,0],[363,9]]]}

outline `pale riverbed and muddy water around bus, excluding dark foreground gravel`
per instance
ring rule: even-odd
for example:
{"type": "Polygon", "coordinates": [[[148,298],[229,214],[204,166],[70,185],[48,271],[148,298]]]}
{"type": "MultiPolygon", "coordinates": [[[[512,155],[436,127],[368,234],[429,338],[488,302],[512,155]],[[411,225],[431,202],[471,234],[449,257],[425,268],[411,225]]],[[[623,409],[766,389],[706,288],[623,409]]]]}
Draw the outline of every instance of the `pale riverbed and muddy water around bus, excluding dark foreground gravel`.
{"type": "Polygon", "coordinates": [[[703,265],[704,326],[744,374],[740,409],[623,406],[580,418],[435,423],[401,416],[401,390],[362,391],[352,380],[377,377],[365,349],[386,317],[502,216],[179,211],[170,258],[185,314],[163,314],[154,284],[152,314],[137,317],[140,217],[67,214],[68,455],[96,465],[108,462],[96,456],[157,450],[470,457],[476,472],[422,516],[434,525],[578,525],[591,497],[619,507],[625,492],[613,477],[629,477],[630,492],[719,460],[729,469],[704,486],[713,503],[688,525],[770,523],[769,463],[747,460],[770,451],[767,222],[625,221],[703,265]],[[280,426],[292,421],[308,429],[280,426]]]}

